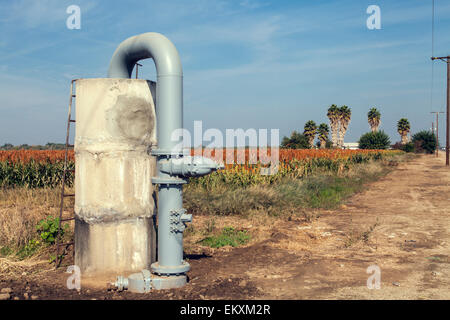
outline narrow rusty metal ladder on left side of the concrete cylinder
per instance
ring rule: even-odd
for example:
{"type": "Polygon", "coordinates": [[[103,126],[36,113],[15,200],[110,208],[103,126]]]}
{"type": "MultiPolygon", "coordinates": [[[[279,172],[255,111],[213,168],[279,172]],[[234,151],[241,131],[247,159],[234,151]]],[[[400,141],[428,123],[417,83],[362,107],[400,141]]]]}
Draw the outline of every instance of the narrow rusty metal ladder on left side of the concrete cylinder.
{"type": "MultiPolygon", "coordinates": [[[[74,220],[75,217],[68,217],[63,218],[63,211],[64,211],[64,199],[67,197],[74,197],[74,193],[66,193],[65,185],[66,185],[66,174],[67,172],[75,172],[75,169],[68,169],[67,168],[67,162],[68,162],[68,154],[69,154],[69,148],[73,148],[74,145],[69,144],[69,138],[70,138],[70,125],[75,122],[75,120],[72,119],[72,103],[73,99],[75,98],[75,94],[73,92],[74,84],[77,79],[74,79],[70,83],[70,99],[69,99],[69,114],[67,117],[67,132],[66,132],[66,146],[65,146],[65,155],[64,155],[64,170],[62,174],[61,179],[61,202],[60,202],[60,208],[59,208],[59,225],[58,225],[58,232],[56,234],[56,261],[55,261],[55,268],[58,268],[59,265],[62,262],[62,259],[59,257],[59,251],[60,247],[65,246],[65,250],[67,250],[71,245],[74,245],[74,242],[61,242],[61,224],[66,221],[74,220]]],[[[75,255],[75,250],[73,250],[73,253],[75,255]]]]}

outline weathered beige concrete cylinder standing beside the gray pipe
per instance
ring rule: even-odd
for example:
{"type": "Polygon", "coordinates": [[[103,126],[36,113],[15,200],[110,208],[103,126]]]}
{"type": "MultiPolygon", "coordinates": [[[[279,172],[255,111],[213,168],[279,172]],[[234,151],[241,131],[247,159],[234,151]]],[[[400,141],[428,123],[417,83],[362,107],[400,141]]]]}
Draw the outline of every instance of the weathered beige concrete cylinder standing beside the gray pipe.
{"type": "Polygon", "coordinates": [[[155,83],[76,83],[75,263],[83,273],[140,271],[155,260],[155,83]]]}

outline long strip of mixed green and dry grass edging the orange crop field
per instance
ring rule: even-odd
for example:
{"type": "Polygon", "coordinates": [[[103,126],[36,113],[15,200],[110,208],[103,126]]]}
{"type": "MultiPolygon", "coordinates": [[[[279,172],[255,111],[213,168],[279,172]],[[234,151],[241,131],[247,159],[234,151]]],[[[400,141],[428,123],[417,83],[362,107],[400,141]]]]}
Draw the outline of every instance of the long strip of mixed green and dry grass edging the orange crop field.
{"type": "Polygon", "coordinates": [[[184,192],[184,206],[191,213],[219,216],[261,212],[278,216],[304,209],[335,209],[391,169],[388,161],[372,161],[354,165],[341,175],[323,172],[301,179],[286,177],[274,184],[238,189],[191,187],[184,192]]]}

